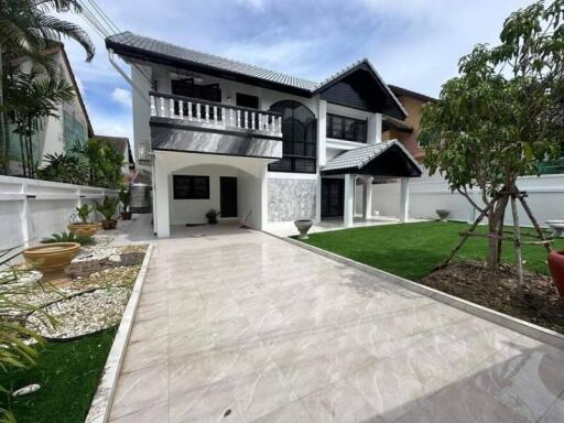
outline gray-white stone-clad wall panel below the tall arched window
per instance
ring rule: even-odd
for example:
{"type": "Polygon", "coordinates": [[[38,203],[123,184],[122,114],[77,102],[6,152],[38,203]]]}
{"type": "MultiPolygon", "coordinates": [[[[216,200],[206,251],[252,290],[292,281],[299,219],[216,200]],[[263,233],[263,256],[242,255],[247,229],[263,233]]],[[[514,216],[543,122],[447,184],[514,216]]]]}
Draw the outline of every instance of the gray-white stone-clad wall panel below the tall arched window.
{"type": "Polygon", "coordinates": [[[269,221],[315,218],[315,180],[269,178],[269,221]]]}

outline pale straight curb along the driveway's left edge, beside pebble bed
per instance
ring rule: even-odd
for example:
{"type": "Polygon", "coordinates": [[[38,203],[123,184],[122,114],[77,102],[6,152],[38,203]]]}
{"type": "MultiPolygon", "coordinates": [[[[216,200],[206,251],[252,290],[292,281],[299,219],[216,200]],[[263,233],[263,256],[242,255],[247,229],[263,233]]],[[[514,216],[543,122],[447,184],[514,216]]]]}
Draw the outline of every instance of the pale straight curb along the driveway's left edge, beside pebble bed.
{"type": "Polygon", "coordinates": [[[106,423],[109,420],[119,372],[126,356],[126,348],[129,336],[131,335],[131,328],[133,327],[133,319],[139,305],[139,299],[141,297],[141,290],[145,281],[147,270],[149,268],[149,261],[151,260],[152,252],[153,246],[150,243],[147,248],[145,257],[141,263],[139,274],[137,275],[128,305],[126,306],[126,311],[121,317],[118,333],[116,334],[116,338],[113,338],[113,344],[111,345],[108,359],[106,360],[100,384],[96,390],[96,394],[94,395],[85,423],[106,423]]]}

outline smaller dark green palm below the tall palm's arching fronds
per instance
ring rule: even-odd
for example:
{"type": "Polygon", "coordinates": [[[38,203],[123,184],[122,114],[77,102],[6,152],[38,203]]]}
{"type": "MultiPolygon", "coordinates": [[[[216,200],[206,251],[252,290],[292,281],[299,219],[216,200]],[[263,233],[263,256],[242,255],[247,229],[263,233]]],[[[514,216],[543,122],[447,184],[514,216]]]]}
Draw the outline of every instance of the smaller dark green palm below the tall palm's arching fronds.
{"type": "Polygon", "coordinates": [[[47,76],[37,69],[18,73],[8,78],[7,104],[0,110],[7,112],[20,138],[23,175],[35,177],[39,165],[34,160],[33,137],[47,117],[58,118],[58,105],[74,98],[74,88],[64,79],[47,76]]]}

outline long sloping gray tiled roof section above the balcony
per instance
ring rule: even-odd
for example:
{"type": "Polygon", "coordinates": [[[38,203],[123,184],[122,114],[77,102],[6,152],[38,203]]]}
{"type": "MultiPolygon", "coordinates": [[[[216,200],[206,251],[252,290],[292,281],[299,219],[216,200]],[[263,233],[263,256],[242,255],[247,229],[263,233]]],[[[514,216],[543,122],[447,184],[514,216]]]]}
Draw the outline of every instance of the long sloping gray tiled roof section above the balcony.
{"type": "Polygon", "coordinates": [[[300,88],[313,91],[316,83],[296,76],[282,74],[275,70],[264,69],[259,66],[248,65],[246,63],[232,61],[216,56],[208,53],[198,52],[192,48],[181,47],[164,41],[150,39],[148,36],[137,35],[129,31],[110,35],[106,39],[109,44],[116,43],[122,46],[132,47],[145,52],[161,54],[163,56],[175,57],[186,62],[196,63],[204,66],[209,66],[218,70],[235,72],[237,74],[247,75],[253,78],[261,78],[272,83],[288,85],[294,88],[300,88]]]}

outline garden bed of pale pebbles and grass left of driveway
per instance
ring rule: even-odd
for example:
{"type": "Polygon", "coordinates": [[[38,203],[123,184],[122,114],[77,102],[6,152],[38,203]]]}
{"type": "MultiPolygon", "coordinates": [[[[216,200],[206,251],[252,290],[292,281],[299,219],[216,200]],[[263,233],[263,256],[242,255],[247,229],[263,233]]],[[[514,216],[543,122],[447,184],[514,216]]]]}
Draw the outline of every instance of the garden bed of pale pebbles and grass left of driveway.
{"type": "Polygon", "coordinates": [[[95,239],[96,245],[80,248],[64,272],[42,278],[25,263],[13,268],[19,278],[12,288],[21,286],[21,293],[8,296],[36,310],[2,310],[0,318],[17,319],[46,339],[37,346],[35,366],[0,372],[0,384],[11,391],[41,386],[23,397],[0,394],[0,408],[13,410],[18,422],[86,417],[148,249],[145,245],[112,247],[112,237],[105,235],[95,239]]]}

